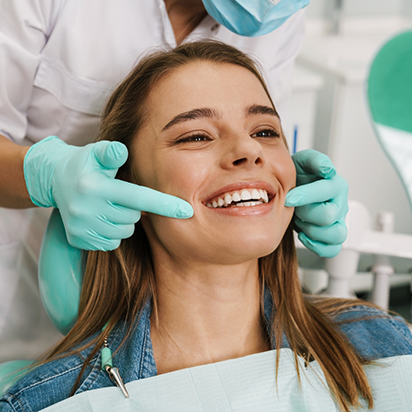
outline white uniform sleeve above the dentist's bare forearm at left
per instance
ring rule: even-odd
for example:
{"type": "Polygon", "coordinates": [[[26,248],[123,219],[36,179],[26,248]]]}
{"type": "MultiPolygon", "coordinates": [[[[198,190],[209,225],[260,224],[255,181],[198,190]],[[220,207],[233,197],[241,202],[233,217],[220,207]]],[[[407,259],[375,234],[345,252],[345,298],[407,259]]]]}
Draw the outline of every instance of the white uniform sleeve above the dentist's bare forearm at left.
{"type": "Polygon", "coordinates": [[[63,5],[63,0],[0,0],[0,134],[16,143],[26,135],[40,53],[63,5]]]}

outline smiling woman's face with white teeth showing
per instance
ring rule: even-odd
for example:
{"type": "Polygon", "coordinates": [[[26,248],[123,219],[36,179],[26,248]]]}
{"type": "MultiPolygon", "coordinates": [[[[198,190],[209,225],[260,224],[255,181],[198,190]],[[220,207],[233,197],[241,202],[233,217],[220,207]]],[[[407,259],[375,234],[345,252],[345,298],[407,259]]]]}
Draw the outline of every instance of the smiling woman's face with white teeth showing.
{"type": "Polygon", "coordinates": [[[193,62],[164,76],[132,150],[139,184],[178,196],[191,219],[142,218],[154,258],[237,264],[266,256],[292,218],[295,168],[259,80],[193,62]]]}

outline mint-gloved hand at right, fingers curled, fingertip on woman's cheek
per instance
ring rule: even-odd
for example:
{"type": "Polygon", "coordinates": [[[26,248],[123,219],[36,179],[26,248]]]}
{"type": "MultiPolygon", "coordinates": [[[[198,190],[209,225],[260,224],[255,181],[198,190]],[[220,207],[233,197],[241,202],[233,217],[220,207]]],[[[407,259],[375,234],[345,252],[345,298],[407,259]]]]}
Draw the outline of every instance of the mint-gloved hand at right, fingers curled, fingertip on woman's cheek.
{"type": "Polygon", "coordinates": [[[334,257],[347,236],[348,184],[322,153],[303,150],[292,159],[297,187],[287,194],[285,206],[296,208],[299,240],[321,257],[334,257]]]}

